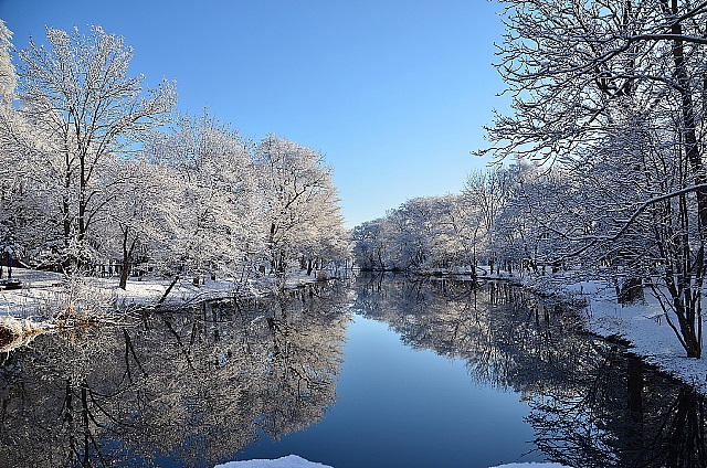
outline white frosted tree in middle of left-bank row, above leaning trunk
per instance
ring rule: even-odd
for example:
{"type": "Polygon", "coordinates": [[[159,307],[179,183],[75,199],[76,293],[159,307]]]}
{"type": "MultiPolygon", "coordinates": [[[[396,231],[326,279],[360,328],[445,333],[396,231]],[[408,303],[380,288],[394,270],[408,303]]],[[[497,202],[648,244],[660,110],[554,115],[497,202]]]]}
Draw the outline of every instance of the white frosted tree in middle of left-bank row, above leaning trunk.
{"type": "Polygon", "coordinates": [[[172,193],[165,259],[172,274],[233,274],[257,259],[263,213],[250,149],[205,111],[181,116],[172,131],[150,139],[152,162],[172,172],[165,188],[172,193]]]}

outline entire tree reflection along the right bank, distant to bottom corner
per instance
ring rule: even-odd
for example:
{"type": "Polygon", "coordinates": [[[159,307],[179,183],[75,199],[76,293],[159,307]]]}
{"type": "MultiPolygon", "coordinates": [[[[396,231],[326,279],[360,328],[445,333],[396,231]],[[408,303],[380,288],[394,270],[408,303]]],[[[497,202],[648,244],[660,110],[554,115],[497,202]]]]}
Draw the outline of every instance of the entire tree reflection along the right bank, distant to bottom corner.
{"type": "Polygon", "coordinates": [[[536,445],[577,467],[707,467],[705,401],[619,347],[577,332],[557,304],[506,284],[361,276],[355,309],[412,348],[463,359],[530,405],[536,445]]]}

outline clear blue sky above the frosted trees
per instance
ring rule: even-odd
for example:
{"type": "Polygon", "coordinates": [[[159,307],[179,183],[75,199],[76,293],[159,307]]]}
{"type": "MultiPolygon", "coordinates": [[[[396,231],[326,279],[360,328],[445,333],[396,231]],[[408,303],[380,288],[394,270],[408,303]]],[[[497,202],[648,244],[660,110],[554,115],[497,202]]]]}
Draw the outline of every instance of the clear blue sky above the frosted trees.
{"type": "Polygon", "coordinates": [[[347,225],[405,200],[458,192],[488,160],[492,63],[503,25],[487,0],[0,0],[15,47],[44,26],[125,38],[134,74],[177,81],[178,109],[204,107],[241,135],[321,151],[347,225]]]}

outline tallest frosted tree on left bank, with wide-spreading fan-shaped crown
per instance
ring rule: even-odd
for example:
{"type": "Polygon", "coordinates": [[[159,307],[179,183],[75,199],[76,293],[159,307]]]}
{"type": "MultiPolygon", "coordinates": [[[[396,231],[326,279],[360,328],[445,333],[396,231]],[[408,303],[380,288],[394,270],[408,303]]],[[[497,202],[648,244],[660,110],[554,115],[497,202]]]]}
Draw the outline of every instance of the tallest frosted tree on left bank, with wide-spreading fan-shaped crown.
{"type": "Polygon", "coordinates": [[[87,35],[48,28],[46,44],[31,39],[19,56],[18,94],[43,142],[34,153],[44,167],[46,202],[56,210],[65,265],[78,265],[88,255],[92,224],[112,199],[101,182],[109,156],[135,150],[162,124],[176,104],[175,86],[163,82],[145,93],[144,77],[128,75],[131,47],[99,26],[87,35]]]}

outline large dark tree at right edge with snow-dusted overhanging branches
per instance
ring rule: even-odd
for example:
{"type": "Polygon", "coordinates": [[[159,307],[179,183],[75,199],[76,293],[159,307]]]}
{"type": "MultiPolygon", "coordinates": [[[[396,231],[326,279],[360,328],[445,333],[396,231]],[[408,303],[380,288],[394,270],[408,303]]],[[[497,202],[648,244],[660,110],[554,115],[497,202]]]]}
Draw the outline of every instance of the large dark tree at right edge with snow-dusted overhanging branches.
{"type": "MultiPolygon", "coordinates": [[[[562,233],[566,243],[574,244],[567,256],[603,252],[599,244],[636,236],[644,215],[659,212],[652,224],[644,224],[655,230],[641,233],[652,242],[644,255],[652,273],[661,276],[661,291],[666,294],[662,304],[687,355],[700,357],[707,2],[505,3],[507,34],[499,46],[498,70],[513,96],[514,113],[497,115],[489,128],[493,150],[499,158],[530,157],[570,174],[585,174],[599,162],[615,168],[629,163],[633,173],[624,174],[641,190],[612,206],[604,204],[609,211],[589,210],[590,231],[562,233]],[[615,157],[619,153],[623,158],[615,157]],[[656,182],[664,181],[661,167],[682,170],[678,184],[656,182]]],[[[610,187],[611,180],[616,179],[598,179],[594,190],[610,187]]]]}

